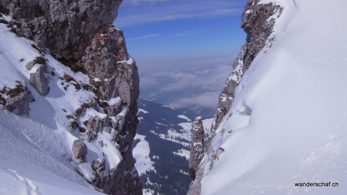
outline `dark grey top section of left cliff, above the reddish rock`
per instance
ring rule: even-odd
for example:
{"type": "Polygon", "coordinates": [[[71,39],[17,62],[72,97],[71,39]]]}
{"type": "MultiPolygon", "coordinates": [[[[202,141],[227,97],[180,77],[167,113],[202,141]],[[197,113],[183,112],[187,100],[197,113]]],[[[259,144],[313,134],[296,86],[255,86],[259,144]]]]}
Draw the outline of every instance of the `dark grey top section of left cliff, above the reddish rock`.
{"type": "Polygon", "coordinates": [[[17,21],[19,35],[58,54],[94,34],[101,25],[112,24],[121,3],[122,0],[1,1],[17,21]]]}

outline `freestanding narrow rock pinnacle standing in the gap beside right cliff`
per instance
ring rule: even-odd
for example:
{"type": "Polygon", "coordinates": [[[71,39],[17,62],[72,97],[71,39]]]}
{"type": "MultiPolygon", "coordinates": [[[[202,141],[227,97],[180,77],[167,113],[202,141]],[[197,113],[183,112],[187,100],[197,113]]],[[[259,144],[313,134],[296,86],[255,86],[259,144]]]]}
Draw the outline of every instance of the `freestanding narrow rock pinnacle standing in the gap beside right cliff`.
{"type": "Polygon", "coordinates": [[[204,126],[202,125],[202,117],[196,117],[192,123],[192,144],[189,156],[189,169],[191,177],[195,179],[195,172],[198,170],[202,157],[204,156],[204,126]]]}

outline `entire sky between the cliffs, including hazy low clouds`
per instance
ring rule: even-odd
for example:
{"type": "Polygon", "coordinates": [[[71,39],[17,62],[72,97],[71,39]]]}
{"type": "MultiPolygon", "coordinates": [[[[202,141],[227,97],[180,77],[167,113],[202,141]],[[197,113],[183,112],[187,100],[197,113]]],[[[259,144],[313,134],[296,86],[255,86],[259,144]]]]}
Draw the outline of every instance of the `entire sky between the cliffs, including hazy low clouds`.
{"type": "Polygon", "coordinates": [[[224,81],[232,71],[235,55],[245,43],[246,33],[239,26],[246,2],[124,0],[113,25],[123,30],[128,53],[136,60],[141,97],[169,89],[172,93],[184,92],[186,97],[181,98],[185,100],[211,93],[209,99],[216,101],[210,107],[215,107],[224,81]],[[215,74],[211,67],[216,70],[215,74]],[[217,70],[219,68],[221,70],[217,70]],[[206,77],[201,74],[202,69],[210,71],[208,74],[205,71],[206,77]],[[164,79],[161,77],[164,73],[171,73],[165,78],[173,78],[164,79]],[[211,79],[213,84],[205,83],[201,90],[195,88],[194,92],[187,93],[193,83],[183,83],[182,79],[187,79],[177,74],[195,76],[195,83],[199,79],[202,82],[211,79]],[[206,90],[208,88],[210,90],[206,90]]]}

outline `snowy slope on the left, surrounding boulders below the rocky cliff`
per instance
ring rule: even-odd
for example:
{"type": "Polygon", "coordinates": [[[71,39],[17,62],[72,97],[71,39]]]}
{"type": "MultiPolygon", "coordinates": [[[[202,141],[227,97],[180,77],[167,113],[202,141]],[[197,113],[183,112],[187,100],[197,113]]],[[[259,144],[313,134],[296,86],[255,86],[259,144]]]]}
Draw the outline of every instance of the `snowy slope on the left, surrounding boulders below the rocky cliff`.
{"type": "MultiPolygon", "coordinates": [[[[32,44],[35,45],[9,32],[6,24],[0,23],[0,88],[12,88],[15,81],[19,81],[26,84],[35,99],[30,103],[28,117],[18,117],[0,109],[0,194],[100,194],[86,182],[95,177],[91,164],[94,160],[105,159],[104,174],[108,174],[108,170],[120,162],[120,152],[117,144],[111,141],[112,134],[104,133],[98,135],[95,142],[84,141],[88,148],[87,162],[81,163],[81,159],[74,158],[73,142],[84,134],[70,132],[71,118],[67,116],[74,115],[83,103],[93,102],[95,95],[77,90],[75,81],[69,85],[59,77],[70,75],[81,84],[90,84],[89,78],[74,73],[46,52],[44,57],[52,75],[49,76],[50,92],[41,96],[29,81],[29,74],[35,73],[39,65],[31,70],[25,67],[42,55],[32,44]],[[99,141],[105,146],[101,148],[99,141]]],[[[102,109],[99,110],[86,109],[84,119],[105,116],[102,109]]]]}

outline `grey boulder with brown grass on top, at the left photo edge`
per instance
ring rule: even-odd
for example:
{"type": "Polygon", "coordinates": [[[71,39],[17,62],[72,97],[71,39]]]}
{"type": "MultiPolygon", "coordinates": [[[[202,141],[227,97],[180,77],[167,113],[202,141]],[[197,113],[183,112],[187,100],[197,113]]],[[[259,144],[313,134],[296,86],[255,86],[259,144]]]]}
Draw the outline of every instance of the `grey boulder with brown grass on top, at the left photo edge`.
{"type": "Polygon", "coordinates": [[[29,103],[34,101],[34,97],[27,86],[23,86],[23,84],[20,83],[16,85],[15,88],[5,88],[1,91],[7,96],[7,98],[3,98],[1,101],[4,110],[13,112],[18,116],[29,116],[29,103]]]}

